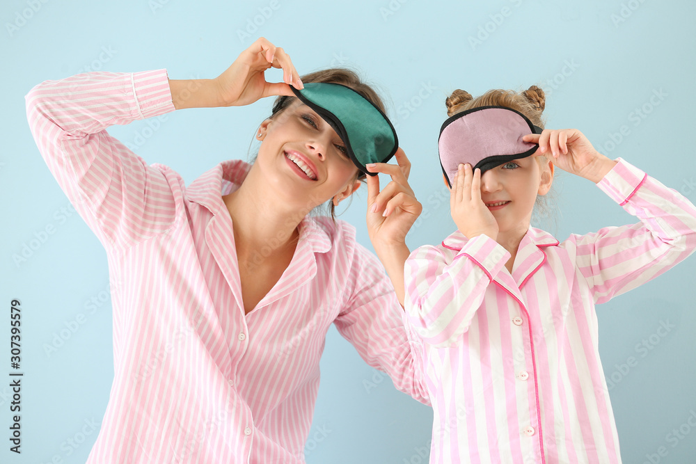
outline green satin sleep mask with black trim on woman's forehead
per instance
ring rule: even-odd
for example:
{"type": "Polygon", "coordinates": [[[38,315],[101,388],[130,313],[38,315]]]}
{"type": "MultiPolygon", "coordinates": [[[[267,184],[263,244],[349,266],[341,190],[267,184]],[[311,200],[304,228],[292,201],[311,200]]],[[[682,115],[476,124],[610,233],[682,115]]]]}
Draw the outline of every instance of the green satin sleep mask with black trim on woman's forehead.
{"type": "Polygon", "coordinates": [[[399,147],[396,131],[382,111],[355,90],[338,83],[310,82],[294,94],[333,127],[349,157],[367,175],[369,163],[386,163],[399,147]]]}

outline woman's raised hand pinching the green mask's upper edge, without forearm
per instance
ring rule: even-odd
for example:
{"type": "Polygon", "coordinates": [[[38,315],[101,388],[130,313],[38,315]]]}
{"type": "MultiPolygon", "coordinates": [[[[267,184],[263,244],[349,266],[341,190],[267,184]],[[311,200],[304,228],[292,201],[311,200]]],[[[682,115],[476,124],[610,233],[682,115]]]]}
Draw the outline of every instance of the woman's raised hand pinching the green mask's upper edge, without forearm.
{"type": "Polygon", "coordinates": [[[294,95],[290,85],[304,88],[290,56],[265,38],[258,38],[251,47],[242,51],[228,69],[213,79],[219,88],[221,106],[243,106],[271,95],[294,95]],[[283,82],[266,81],[264,72],[269,67],[283,69],[283,82]]]}

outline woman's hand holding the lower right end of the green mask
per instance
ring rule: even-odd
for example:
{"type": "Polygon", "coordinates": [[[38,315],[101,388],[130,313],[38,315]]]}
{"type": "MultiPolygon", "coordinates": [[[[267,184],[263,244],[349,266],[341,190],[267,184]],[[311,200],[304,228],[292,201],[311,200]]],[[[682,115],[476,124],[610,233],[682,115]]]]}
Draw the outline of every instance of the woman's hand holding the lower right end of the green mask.
{"type": "Polygon", "coordinates": [[[409,185],[411,161],[401,148],[394,157],[398,166],[388,163],[367,166],[371,173],[383,173],[392,178],[382,191],[379,191],[378,176],[368,175],[366,179],[367,232],[375,246],[406,243],[406,234],[423,209],[409,185]]]}

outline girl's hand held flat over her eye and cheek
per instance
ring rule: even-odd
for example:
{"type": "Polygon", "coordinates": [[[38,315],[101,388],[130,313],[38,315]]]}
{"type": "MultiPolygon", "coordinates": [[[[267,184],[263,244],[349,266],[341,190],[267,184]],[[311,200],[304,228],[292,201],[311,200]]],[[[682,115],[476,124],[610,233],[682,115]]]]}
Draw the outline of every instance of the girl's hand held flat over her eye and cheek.
{"type": "Polygon", "coordinates": [[[498,239],[498,222],[481,200],[481,170],[471,171],[471,165],[460,164],[450,190],[450,214],[459,232],[466,238],[486,234],[498,239]]]}

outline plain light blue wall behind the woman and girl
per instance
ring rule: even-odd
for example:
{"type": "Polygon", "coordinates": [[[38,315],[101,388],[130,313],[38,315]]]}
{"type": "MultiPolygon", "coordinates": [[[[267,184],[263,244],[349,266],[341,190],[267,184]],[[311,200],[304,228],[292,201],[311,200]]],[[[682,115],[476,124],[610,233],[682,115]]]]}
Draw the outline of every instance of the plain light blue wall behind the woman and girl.
{"type": "MultiPolygon", "coordinates": [[[[454,88],[479,95],[537,83],[547,90],[547,127],[578,127],[608,156],[624,157],[696,200],[695,17],[695,3],[685,0],[3,0],[0,462],[47,463],[54,456],[84,462],[96,431],[77,448],[68,440],[80,441],[81,431],[93,428],[86,421],[100,422],[113,375],[105,253],[84,222],[63,209],[68,200],[31,138],[24,95],[36,83],[89,69],[166,67],[173,79],[215,77],[259,35],[284,47],[302,73],[357,67],[381,91],[413,162],[411,182],[424,207],[409,234],[413,248],[454,230],[436,152],[444,99],[454,88]],[[256,30],[247,35],[254,21],[256,30]],[[651,104],[660,90],[666,96],[651,104]],[[650,113],[636,118],[644,105],[650,113]],[[611,134],[622,126],[630,133],[612,145],[611,134]],[[55,232],[16,264],[13,255],[48,225],[55,232]],[[3,380],[10,371],[13,298],[23,308],[21,456],[8,451],[10,391],[3,380]],[[97,304],[90,306],[93,298],[97,304]],[[84,323],[47,354],[45,346],[74,327],[78,314],[84,323]]],[[[268,76],[278,80],[280,72],[268,76]]],[[[137,122],[111,134],[191,182],[223,159],[246,159],[270,106],[267,100],[180,111],[155,130],[137,122]]],[[[562,173],[555,191],[557,210],[545,227],[560,239],[632,221],[583,179],[562,173]]],[[[364,191],[356,195],[342,218],[370,247],[365,198],[364,191]]],[[[667,451],[661,463],[696,461],[696,430],[687,422],[696,410],[695,271],[692,257],[598,307],[603,365],[618,380],[610,395],[625,463],[649,462],[659,447],[667,451]],[[675,327],[659,337],[662,322],[675,327]],[[655,342],[651,350],[640,351],[643,339],[655,342]],[[622,372],[629,356],[637,365],[622,372]],[[668,434],[680,426],[690,434],[675,442],[668,434]]],[[[397,392],[333,329],[322,370],[308,463],[427,461],[431,410],[397,392]]]]}

